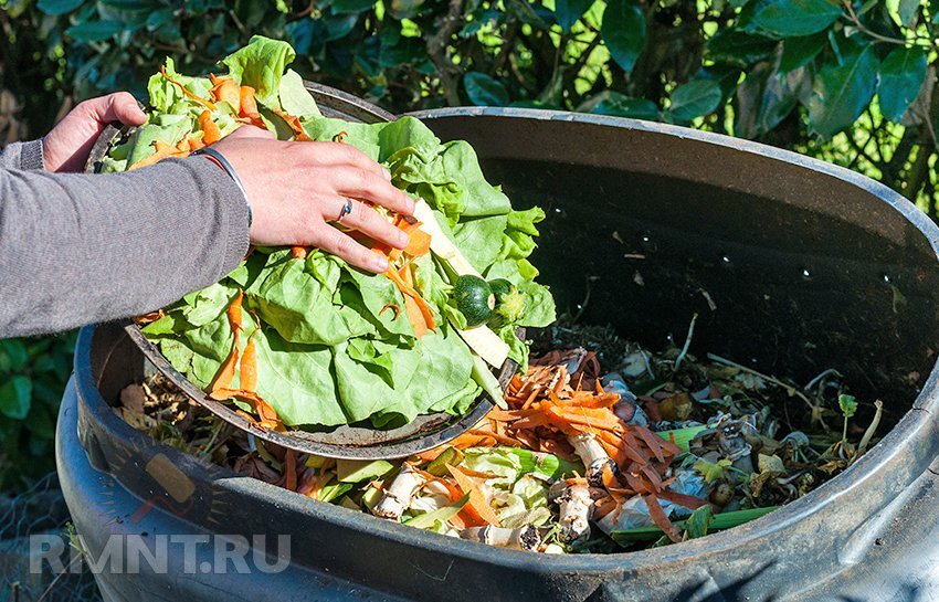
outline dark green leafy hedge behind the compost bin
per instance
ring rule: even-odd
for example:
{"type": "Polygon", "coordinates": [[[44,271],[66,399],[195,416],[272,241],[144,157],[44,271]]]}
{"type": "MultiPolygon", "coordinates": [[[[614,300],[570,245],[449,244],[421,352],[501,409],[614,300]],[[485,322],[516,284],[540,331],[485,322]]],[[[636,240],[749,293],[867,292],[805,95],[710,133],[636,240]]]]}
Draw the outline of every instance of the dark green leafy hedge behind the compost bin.
{"type": "MultiPolygon", "coordinates": [[[[40,135],[66,99],[140,94],[166,55],[205,72],[261,33],[294,44],[305,77],[394,112],[511,105],[693,125],[859,170],[935,218],[937,22],[937,0],[0,0],[0,73],[40,135]]],[[[18,345],[6,344],[21,358],[18,345]]],[[[19,369],[35,397],[39,374],[19,369]]],[[[43,427],[13,429],[44,445],[43,427]]]]}

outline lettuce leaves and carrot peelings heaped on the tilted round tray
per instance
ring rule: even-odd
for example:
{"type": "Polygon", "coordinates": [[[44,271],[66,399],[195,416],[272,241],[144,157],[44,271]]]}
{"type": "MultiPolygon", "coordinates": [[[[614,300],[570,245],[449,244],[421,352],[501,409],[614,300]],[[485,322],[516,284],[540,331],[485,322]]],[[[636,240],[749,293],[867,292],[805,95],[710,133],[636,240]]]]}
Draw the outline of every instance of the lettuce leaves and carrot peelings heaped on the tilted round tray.
{"type": "Polygon", "coordinates": [[[261,429],[391,429],[421,414],[463,415],[484,392],[499,402],[493,370],[528,360],[517,330],[555,320],[527,258],[545,213],[514,209],[468,144],[443,144],[414,118],[323,117],[286,68],[294,57],[286,42],[254,36],[209,77],[177,73],[167,59],[148,83],[147,123],[112,144],[101,170],[186,157],[244,125],[282,140],[351,145],[416,200],[413,218],[370,205],[409,234],[408,247],[346,230],[388,256],[379,276],[316,249],[255,247],[218,284],[138,318],[143,332],[261,429]],[[467,303],[466,278],[498,282],[500,293],[487,293],[483,307],[467,303]]]}

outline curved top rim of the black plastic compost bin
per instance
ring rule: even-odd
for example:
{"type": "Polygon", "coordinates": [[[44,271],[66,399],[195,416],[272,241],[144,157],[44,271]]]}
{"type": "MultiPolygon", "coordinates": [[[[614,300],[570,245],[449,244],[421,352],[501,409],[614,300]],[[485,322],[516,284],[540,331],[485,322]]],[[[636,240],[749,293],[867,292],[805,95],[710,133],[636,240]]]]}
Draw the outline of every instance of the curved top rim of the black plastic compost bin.
{"type": "MultiPolygon", "coordinates": [[[[435,109],[412,114],[416,117],[426,117],[432,122],[435,117],[465,117],[485,116],[500,118],[523,118],[553,122],[581,122],[597,126],[609,126],[640,131],[647,131],[669,137],[694,139],[707,144],[717,145],[743,154],[759,155],[761,157],[793,165],[801,169],[824,173],[825,176],[840,179],[856,188],[859,188],[875,199],[886,202],[898,211],[910,224],[912,224],[928,241],[930,247],[939,258],[939,228],[916,209],[912,203],[894,192],[889,188],[879,184],[864,176],[854,173],[847,169],[825,163],[816,159],[802,157],[794,152],[776,149],[766,145],[738,140],[727,136],[697,131],[679,126],[664,124],[652,124],[636,119],[621,117],[608,117],[595,115],[569,114],[560,112],[546,112],[538,109],[497,109],[497,108],[464,108],[464,109],[435,109]]],[[[94,377],[91,369],[91,347],[95,327],[88,326],[82,329],[75,353],[75,372],[80,391],[83,399],[92,391],[93,399],[86,399],[86,405],[94,412],[104,427],[112,431],[120,439],[128,436],[140,436],[165,448],[165,453],[181,454],[169,446],[159,444],[149,436],[135,431],[130,425],[110,412],[104,402],[97,388],[94,387],[94,377]]],[[[705,539],[687,541],[678,546],[665,548],[640,550],[634,552],[619,552],[613,555],[569,555],[552,558],[539,557],[538,566],[545,571],[577,570],[581,572],[599,572],[610,569],[623,569],[624,567],[640,568],[645,566],[657,566],[663,562],[678,561],[685,558],[700,558],[704,553],[714,555],[730,551],[743,542],[755,541],[767,536],[780,534],[791,525],[801,521],[817,510],[832,504],[838,497],[846,495],[873,478],[879,467],[888,464],[897,455],[916,444],[915,435],[922,434],[924,429],[929,427],[928,414],[939,408],[937,399],[937,379],[939,379],[939,365],[933,365],[922,391],[917,395],[910,411],[908,411],[899,423],[890,430],[887,435],[872,447],[855,465],[848,467],[844,473],[816,490],[810,492],[802,498],[771,513],[768,516],[729,529],[726,532],[710,535],[705,539]],[[927,415],[924,415],[927,414],[927,415]]],[[[188,454],[181,454],[186,455],[188,454]]],[[[445,553],[457,553],[481,562],[498,562],[504,566],[517,566],[524,563],[528,569],[531,552],[523,552],[506,549],[493,549],[479,547],[478,543],[455,540],[453,538],[439,538],[437,534],[420,531],[403,525],[391,524],[363,513],[349,510],[331,505],[324,505],[316,500],[296,496],[266,483],[241,477],[230,471],[224,474],[239,477],[234,480],[235,488],[252,492],[259,498],[266,499],[272,504],[287,504],[298,510],[321,516],[338,526],[368,531],[372,535],[388,538],[403,545],[418,545],[426,549],[439,549],[445,553]]],[[[231,478],[221,479],[225,486],[231,486],[231,478]]]]}

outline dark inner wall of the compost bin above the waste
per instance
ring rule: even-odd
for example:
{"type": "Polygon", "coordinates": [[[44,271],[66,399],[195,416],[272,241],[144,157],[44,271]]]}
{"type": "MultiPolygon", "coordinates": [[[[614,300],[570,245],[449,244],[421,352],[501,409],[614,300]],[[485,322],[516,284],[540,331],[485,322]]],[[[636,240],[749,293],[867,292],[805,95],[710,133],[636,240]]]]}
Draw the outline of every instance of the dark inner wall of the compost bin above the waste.
{"type": "Polygon", "coordinates": [[[697,314],[692,352],[803,384],[837,369],[887,426],[910,408],[935,363],[939,270],[872,191],[738,140],[506,114],[422,117],[473,144],[517,208],[546,210],[531,261],[559,313],[585,305],[581,323],[652,350],[682,346],[697,314]]]}

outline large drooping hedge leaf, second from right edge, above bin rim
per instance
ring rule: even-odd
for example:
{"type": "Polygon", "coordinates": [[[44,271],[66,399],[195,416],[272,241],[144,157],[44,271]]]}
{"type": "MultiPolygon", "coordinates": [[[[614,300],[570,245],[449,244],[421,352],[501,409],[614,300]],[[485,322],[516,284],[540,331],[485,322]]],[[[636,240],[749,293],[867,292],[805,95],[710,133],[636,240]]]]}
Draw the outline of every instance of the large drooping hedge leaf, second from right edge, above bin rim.
{"type": "Polygon", "coordinates": [[[826,65],[812,86],[809,125],[823,138],[851,126],[871,103],[877,87],[877,56],[873,46],[826,65]]]}

